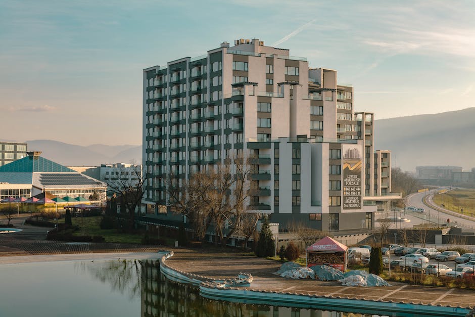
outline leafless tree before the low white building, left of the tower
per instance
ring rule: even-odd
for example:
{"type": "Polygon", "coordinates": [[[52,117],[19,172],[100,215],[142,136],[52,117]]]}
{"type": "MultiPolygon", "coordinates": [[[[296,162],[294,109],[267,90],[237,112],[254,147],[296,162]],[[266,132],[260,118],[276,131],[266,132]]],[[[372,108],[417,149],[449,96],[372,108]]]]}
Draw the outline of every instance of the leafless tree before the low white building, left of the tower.
{"type": "Polygon", "coordinates": [[[116,175],[112,175],[107,182],[108,191],[118,196],[121,212],[125,209],[129,216],[129,230],[133,230],[135,213],[140,208],[144,188],[146,185],[145,174],[140,165],[131,164],[130,167],[122,167],[116,175]]]}

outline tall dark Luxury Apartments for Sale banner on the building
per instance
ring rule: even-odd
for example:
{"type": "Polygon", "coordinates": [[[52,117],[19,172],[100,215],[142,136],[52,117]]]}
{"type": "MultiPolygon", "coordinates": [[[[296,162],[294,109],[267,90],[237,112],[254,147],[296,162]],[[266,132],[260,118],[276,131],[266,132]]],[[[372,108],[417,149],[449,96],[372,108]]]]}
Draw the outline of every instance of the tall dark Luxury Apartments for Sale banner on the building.
{"type": "Polygon", "coordinates": [[[360,150],[345,144],[343,152],[343,210],[361,209],[362,159],[360,150]]]}

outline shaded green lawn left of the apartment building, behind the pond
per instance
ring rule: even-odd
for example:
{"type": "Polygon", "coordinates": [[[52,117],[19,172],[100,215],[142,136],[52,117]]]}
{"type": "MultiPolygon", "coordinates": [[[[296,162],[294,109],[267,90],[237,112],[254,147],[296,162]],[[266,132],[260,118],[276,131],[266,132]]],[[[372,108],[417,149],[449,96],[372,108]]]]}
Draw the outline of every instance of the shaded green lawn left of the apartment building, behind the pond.
{"type": "MultiPolygon", "coordinates": [[[[97,217],[73,217],[73,225],[77,225],[80,229],[73,233],[73,236],[103,236],[106,242],[112,243],[141,243],[143,235],[141,234],[124,234],[117,232],[116,229],[101,229],[102,216],[97,217]]],[[[54,221],[51,221],[54,222],[54,221]]],[[[64,223],[64,218],[58,220],[58,223],[64,223]]]]}

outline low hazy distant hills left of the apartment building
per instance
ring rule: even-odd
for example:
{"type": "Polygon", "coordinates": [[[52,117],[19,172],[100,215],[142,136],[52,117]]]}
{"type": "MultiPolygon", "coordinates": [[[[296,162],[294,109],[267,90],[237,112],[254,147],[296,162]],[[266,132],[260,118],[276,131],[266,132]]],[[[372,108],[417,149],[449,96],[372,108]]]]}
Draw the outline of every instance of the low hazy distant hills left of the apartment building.
{"type": "Polygon", "coordinates": [[[26,141],[28,150],[41,151],[44,158],[62,165],[97,166],[111,163],[141,163],[141,146],[79,146],[52,140],[26,141]],[[109,155],[107,155],[109,154],[109,155]]]}

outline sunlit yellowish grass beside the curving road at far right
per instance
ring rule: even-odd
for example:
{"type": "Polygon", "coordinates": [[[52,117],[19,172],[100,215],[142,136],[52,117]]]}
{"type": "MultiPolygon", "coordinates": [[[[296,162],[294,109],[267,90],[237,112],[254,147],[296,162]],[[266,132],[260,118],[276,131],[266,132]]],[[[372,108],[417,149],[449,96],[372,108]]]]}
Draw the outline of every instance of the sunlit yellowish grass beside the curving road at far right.
{"type": "Polygon", "coordinates": [[[475,216],[475,189],[454,189],[445,194],[434,195],[434,203],[446,209],[475,216]]]}

